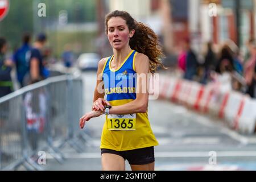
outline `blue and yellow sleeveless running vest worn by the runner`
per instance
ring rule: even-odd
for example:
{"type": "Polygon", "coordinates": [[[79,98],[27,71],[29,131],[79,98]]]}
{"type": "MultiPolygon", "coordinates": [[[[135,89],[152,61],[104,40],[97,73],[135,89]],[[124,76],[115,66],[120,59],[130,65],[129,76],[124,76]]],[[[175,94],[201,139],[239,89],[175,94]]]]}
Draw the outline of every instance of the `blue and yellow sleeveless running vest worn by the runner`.
{"type": "MultiPolygon", "coordinates": [[[[132,50],[116,70],[113,70],[110,64],[113,56],[105,62],[102,80],[104,80],[106,100],[112,106],[124,105],[136,98],[137,74],[134,66],[136,54],[137,52],[132,50]]],[[[106,116],[100,148],[126,151],[156,145],[158,142],[152,133],[147,112],[106,116]]]]}

